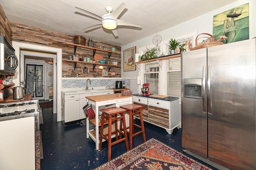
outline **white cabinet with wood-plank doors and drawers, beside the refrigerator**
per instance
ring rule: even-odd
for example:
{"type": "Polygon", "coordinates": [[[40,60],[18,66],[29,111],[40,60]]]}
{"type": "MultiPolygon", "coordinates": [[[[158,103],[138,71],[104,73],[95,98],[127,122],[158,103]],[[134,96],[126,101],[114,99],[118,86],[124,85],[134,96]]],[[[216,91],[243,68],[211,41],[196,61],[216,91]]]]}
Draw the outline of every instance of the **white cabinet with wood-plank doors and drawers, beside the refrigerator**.
{"type": "MultiPolygon", "coordinates": [[[[174,128],[180,128],[179,100],[163,100],[133,96],[133,103],[142,105],[143,120],[165,128],[172,134],[174,128]]],[[[139,119],[139,117],[137,117],[139,119]]]]}

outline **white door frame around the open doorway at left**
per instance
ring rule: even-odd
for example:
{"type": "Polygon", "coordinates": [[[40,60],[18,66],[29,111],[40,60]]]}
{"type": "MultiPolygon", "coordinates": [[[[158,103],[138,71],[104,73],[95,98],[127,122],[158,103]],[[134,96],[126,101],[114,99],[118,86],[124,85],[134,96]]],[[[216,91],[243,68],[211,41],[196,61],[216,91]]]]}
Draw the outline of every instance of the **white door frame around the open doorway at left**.
{"type": "MultiPolygon", "coordinates": [[[[62,49],[55,47],[47,47],[43,45],[35,45],[29,43],[22,42],[12,42],[12,47],[15,49],[15,55],[18,58],[19,64],[24,65],[23,61],[20,60],[20,49],[31,49],[36,51],[46,51],[51,53],[56,53],[57,57],[53,58],[53,72],[57,73],[56,76],[53,77],[53,113],[57,113],[57,121],[61,121],[61,87],[62,87],[62,49]],[[57,67],[56,67],[57,66],[57,67]]],[[[20,85],[20,68],[16,68],[16,73],[13,77],[13,83],[16,85],[20,85]]]]}

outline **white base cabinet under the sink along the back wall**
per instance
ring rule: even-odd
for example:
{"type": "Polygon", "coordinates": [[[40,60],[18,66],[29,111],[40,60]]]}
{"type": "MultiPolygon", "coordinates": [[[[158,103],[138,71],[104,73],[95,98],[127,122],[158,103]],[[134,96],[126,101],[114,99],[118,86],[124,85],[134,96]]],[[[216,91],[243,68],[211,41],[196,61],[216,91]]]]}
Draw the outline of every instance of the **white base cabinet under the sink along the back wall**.
{"type": "Polygon", "coordinates": [[[64,123],[86,119],[83,107],[87,104],[87,96],[113,94],[113,90],[94,91],[91,93],[71,93],[62,93],[62,121],[64,121],[64,123]]]}

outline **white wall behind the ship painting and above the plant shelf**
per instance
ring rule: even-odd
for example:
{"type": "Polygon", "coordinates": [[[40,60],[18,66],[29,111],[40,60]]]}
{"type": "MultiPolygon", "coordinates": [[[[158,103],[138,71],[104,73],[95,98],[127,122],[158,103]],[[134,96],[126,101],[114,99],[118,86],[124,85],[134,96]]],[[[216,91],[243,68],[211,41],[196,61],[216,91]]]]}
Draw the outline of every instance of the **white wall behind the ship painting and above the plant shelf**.
{"type": "MultiPolygon", "coordinates": [[[[237,2],[234,2],[227,6],[223,6],[222,8],[218,8],[218,9],[208,12],[202,16],[198,16],[192,20],[189,20],[187,22],[184,22],[184,23],[174,26],[172,28],[168,28],[161,32],[157,32],[157,34],[162,37],[162,42],[164,40],[170,40],[171,38],[179,37],[179,36],[188,34],[190,32],[194,32],[194,31],[198,31],[198,34],[202,34],[202,33],[212,34],[213,16],[214,15],[219,14],[221,12],[225,12],[226,10],[230,10],[231,8],[235,8],[242,4],[246,4],[248,2],[249,2],[249,38],[254,38],[254,37],[256,37],[256,22],[255,22],[256,21],[256,11],[255,11],[256,0],[239,0],[237,2]]],[[[146,29],[146,28],[143,28],[143,29],[146,29]]],[[[123,59],[123,50],[136,46],[136,53],[138,53],[138,49],[140,47],[144,47],[146,45],[152,44],[152,39],[154,36],[156,36],[156,34],[153,34],[153,35],[143,38],[141,40],[138,40],[138,41],[135,41],[135,42],[132,42],[132,43],[122,46],[121,47],[121,51],[122,51],[121,58],[123,59]]],[[[123,65],[124,61],[122,60],[121,62],[123,65]]],[[[122,73],[122,78],[136,79],[139,74],[139,71],[138,71],[138,68],[136,68],[136,71],[123,71],[123,69],[122,69],[121,73],[122,73]]],[[[140,86],[141,85],[137,85],[137,83],[134,83],[134,84],[131,83],[130,88],[134,89],[134,91],[138,91],[138,88],[140,88],[140,86]]]]}

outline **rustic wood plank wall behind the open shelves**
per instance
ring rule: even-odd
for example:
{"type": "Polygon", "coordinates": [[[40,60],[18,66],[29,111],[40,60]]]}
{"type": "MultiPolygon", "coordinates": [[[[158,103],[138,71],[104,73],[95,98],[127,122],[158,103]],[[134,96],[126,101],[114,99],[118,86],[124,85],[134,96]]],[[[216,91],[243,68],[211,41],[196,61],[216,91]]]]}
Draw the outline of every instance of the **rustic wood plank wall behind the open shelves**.
{"type": "MultiPolygon", "coordinates": [[[[14,22],[10,22],[10,26],[12,31],[12,41],[61,48],[62,59],[68,59],[69,54],[74,54],[74,47],[66,44],[66,42],[71,42],[73,40],[73,36],[48,30],[42,30],[40,28],[26,26],[14,22]]],[[[86,44],[87,42],[88,40],[86,40],[86,44]]],[[[116,52],[118,53],[112,53],[110,59],[112,59],[112,61],[118,61],[118,67],[112,67],[110,72],[115,72],[115,75],[112,77],[121,77],[121,47],[102,42],[95,42],[95,47],[99,48],[100,46],[107,47],[108,49],[111,49],[111,47],[116,47],[116,52]]],[[[102,54],[104,59],[108,58],[108,53],[104,51],[96,51],[96,53],[102,54]]],[[[77,47],[76,54],[93,58],[93,51],[91,49],[77,47]]],[[[66,77],[76,77],[76,74],[78,74],[78,77],[111,77],[110,73],[109,76],[102,76],[101,69],[97,69],[98,66],[96,66],[93,71],[92,64],[77,63],[76,70],[74,70],[73,65],[73,62],[62,61],[62,77],[64,77],[64,74],[66,74],[66,77]],[[88,67],[89,73],[86,75],[82,74],[82,67],[88,67]]]]}

